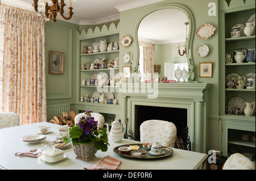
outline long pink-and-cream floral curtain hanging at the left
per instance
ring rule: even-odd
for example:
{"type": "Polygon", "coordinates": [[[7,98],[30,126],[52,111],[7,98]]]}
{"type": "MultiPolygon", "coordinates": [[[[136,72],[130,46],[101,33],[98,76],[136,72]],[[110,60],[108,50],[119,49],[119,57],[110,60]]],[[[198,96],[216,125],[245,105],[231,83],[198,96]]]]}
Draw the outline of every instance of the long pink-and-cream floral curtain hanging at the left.
{"type": "Polygon", "coordinates": [[[20,125],[47,121],[46,18],[0,7],[0,112],[16,112],[20,125]]]}

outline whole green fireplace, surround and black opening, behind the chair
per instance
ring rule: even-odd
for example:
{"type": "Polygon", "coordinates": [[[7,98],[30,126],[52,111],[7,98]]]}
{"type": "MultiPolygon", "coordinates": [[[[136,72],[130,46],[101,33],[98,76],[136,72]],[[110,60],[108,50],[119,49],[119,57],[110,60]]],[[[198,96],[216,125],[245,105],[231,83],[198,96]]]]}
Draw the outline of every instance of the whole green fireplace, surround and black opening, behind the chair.
{"type": "MultiPolygon", "coordinates": [[[[134,86],[135,88],[137,87],[134,86]]],[[[177,136],[188,127],[191,150],[207,153],[209,88],[208,83],[159,83],[154,92],[156,94],[150,97],[148,95],[153,92],[150,87],[140,85],[137,91],[128,89],[120,92],[122,112],[119,118],[124,123],[128,120],[124,124],[127,125],[127,131],[138,134],[139,125],[144,120],[171,121],[177,127],[177,136]]]]}

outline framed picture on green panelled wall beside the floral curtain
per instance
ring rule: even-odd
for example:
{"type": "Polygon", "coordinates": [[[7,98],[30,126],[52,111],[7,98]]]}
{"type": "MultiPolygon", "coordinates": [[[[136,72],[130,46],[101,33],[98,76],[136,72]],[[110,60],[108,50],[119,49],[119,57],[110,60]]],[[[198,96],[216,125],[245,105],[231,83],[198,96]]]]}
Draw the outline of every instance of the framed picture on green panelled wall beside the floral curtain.
{"type": "Polygon", "coordinates": [[[63,74],[64,53],[49,51],[49,74],[63,74]]]}

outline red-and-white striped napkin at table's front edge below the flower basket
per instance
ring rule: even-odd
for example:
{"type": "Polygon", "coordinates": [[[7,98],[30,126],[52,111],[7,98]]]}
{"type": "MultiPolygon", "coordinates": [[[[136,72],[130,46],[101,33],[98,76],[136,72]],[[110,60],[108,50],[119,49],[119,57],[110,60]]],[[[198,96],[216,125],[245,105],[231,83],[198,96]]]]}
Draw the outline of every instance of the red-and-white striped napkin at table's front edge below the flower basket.
{"type": "Polygon", "coordinates": [[[104,158],[99,158],[96,161],[90,163],[90,165],[84,167],[85,170],[120,170],[121,160],[106,156],[104,158]]]}

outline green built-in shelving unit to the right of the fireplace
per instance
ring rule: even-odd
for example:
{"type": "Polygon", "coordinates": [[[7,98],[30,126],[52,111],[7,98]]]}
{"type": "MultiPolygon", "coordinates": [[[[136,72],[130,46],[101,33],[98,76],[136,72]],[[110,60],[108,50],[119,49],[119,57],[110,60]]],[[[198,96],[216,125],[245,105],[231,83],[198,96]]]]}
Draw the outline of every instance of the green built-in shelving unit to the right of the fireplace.
{"type": "Polygon", "coordinates": [[[225,63],[225,53],[234,52],[240,48],[255,48],[255,34],[253,36],[230,37],[230,30],[236,24],[245,24],[251,15],[255,14],[254,6],[220,11],[220,148],[225,156],[233,153],[253,154],[255,161],[255,112],[253,116],[228,114],[226,107],[234,97],[239,97],[245,102],[255,101],[255,89],[227,89],[225,78],[230,73],[237,73],[245,76],[248,73],[255,73],[255,62],[232,64],[225,63]],[[249,140],[242,137],[249,135],[249,140]],[[254,137],[254,139],[253,139],[254,137]]]}

